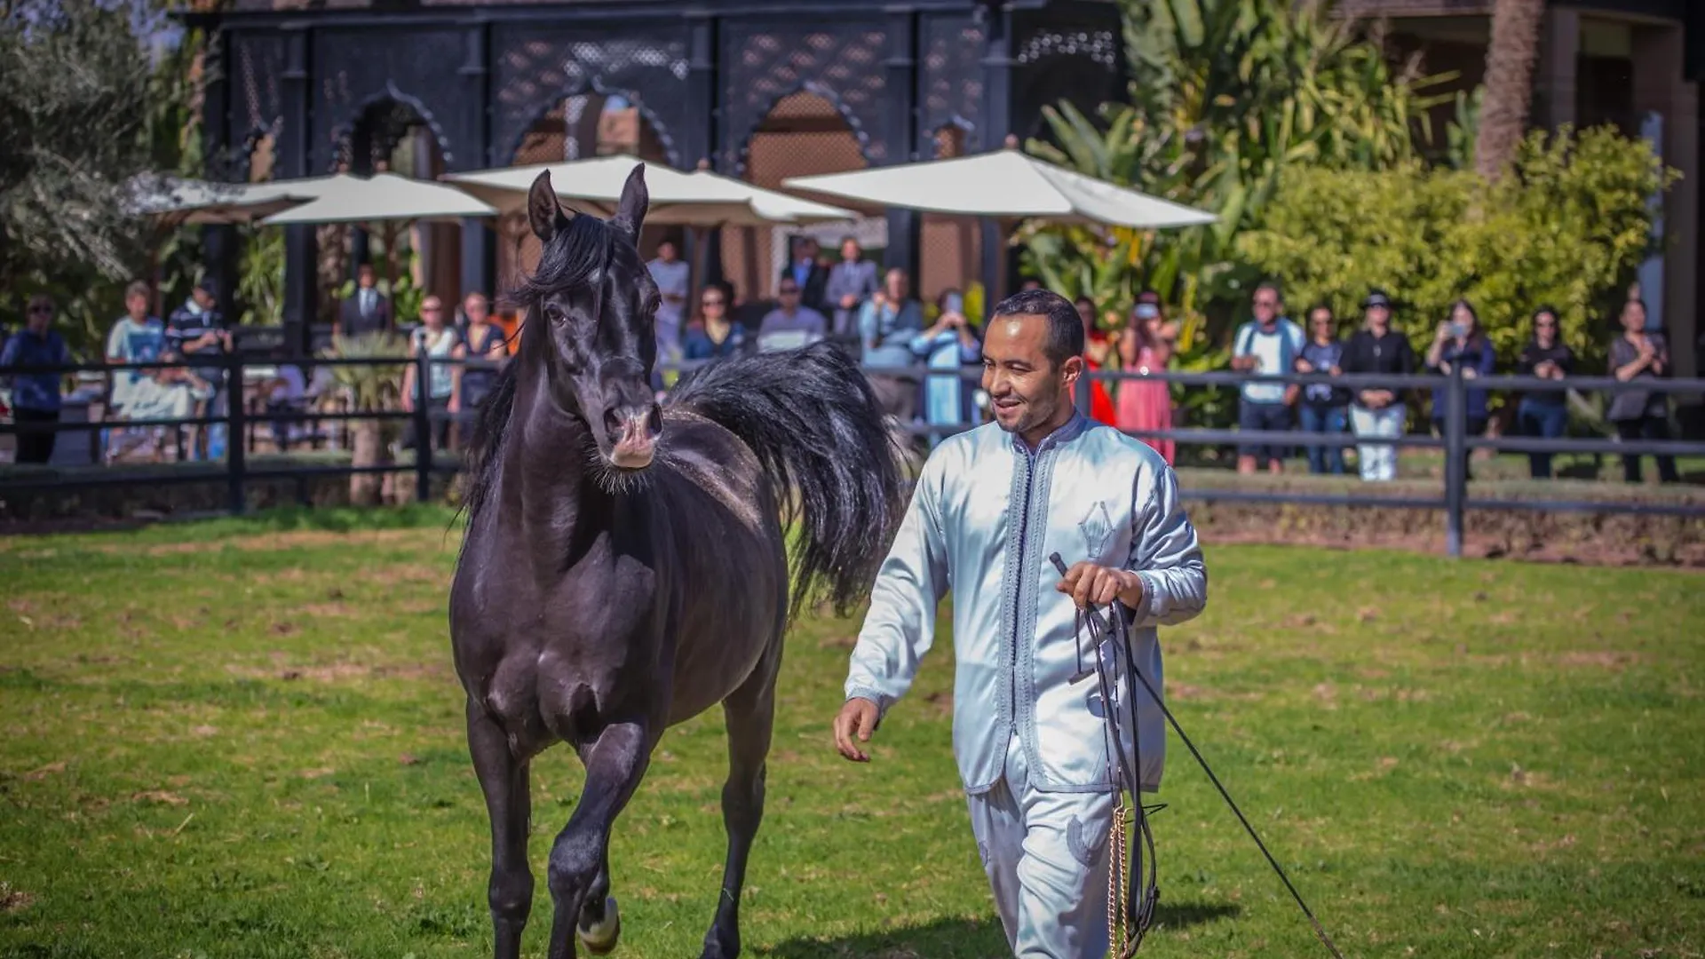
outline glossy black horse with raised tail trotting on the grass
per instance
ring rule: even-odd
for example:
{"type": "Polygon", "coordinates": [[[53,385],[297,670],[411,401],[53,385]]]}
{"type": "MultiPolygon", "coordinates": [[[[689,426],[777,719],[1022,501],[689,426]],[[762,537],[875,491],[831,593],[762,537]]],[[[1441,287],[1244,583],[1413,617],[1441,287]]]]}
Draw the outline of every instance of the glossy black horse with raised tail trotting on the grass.
{"type": "Polygon", "coordinates": [[[551,957],[575,956],[571,932],[602,954],[621,932],[610,828],[663,730],[721,703],[728,858],[704,956],[731,957],[783,631],[818,594],[846,611],[868,590],[904,505],[900,468],[870,386],[829,345],[723,362],[658,406],[658,292],[634,249],[643,166],[609,222],[564,215],[549,174],[527,203],[544,253],[469,454],[450,590],[491,814],[496,956],[518,956],[532,906],[532,756],[563,741],[587,766],[551,846],[551,957]]]}

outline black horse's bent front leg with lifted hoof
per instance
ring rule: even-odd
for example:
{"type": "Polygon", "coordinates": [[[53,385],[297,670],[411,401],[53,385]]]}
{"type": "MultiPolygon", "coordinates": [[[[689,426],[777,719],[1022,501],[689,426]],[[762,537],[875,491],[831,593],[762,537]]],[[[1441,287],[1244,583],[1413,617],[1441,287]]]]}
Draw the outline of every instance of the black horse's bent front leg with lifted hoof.
{"type": "Polygon", "coordinates": [[[604,727],[592,746],[581,749],[587,787],[568,817],[568,826],[551,846],[549,884],[556,903],[551,923],[551,959],[575,957],[575,927],[581,928],[588,950],[609,952],[616,947],[614,915],[605,903],[592,903],[590,894],[609,889],[605,862],[610,828],[633,797],[651,759],[651,737],[641,722],[604,727]]]}

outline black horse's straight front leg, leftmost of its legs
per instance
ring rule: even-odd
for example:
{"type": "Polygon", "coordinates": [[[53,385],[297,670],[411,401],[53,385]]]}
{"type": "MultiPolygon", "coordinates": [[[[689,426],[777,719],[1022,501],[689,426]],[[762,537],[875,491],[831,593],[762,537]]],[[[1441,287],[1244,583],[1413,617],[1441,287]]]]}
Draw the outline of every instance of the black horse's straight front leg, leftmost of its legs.
{"type": "Polygon", "coordinates": [[[474,756],[474,773],[486,793],[491,816],[491,925],[496,930],[496,959],[522,954],[522,930],[532,910],[532,872],[527,869],[527,817],[532,799],[527,792],[527,761],[510,751],[510,741],[498,720],[474,700],[467,701],[467,751],[474,756]]]}

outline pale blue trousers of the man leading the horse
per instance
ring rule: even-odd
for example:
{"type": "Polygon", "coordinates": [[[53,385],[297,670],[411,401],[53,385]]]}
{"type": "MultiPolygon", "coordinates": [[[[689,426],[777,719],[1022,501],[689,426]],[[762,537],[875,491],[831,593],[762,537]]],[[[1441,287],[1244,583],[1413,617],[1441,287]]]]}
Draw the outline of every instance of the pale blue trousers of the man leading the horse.
{"type": "Polygon", "coordinates": [[[967,799],[1013,956],[1103,959],[1113,795],[1032,788],[1025,747],[1014,735],[1006,775],[967,799]]]}

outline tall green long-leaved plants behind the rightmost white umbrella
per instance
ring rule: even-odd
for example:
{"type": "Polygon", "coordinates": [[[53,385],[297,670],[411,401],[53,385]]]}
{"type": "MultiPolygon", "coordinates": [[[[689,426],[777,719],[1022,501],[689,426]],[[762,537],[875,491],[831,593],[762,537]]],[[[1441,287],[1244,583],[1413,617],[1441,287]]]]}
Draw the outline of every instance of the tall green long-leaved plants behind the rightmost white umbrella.
{"type": "Polygon", "coordinates": [[[1032,154],[1217,213],[1209,227],[1042,229],[1030,270],[1061,292],[1124,312],[1136,285],[1183,312],[1229,311],[1255,280],[1240,232],[1294,164],[1379,169],[1415,157],[1430,135],[1430,78],[1395,70],[1359,24],[1325,3],[1124,0],[1129,102],[1100,123],[1071,104],[1047,108],[1050,142],[1032,154]]]}

